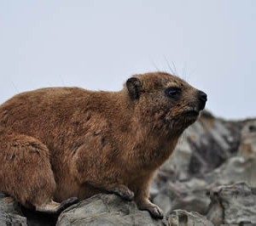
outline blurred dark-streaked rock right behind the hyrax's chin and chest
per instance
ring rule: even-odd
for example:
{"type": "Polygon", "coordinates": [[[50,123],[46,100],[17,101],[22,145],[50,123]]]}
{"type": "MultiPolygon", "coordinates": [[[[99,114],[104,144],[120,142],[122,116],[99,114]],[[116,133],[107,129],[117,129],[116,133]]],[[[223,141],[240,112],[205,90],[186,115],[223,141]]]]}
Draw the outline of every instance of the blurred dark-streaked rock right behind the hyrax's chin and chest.
{"type": "Polygon", "coordinates": [[[204,111],[180,138],[160,173],[172,182],[212,172],[235,155],[245,122],[223,121],[204,111]]]}

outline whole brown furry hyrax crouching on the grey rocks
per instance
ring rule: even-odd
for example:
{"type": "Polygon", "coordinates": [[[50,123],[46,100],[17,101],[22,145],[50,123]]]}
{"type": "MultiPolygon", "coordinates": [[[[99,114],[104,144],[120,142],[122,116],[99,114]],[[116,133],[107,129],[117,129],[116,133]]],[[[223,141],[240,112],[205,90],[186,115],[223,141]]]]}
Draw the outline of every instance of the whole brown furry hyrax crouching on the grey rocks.
{"type": "Polygon", "coordinates": [[[73,196],[115,193],[162,218],[148,200],[154,172],[206,101],[164,72],[132,76],[119,92],[20,93],[0,106],[0,190],[46,212],[73,196]]]}

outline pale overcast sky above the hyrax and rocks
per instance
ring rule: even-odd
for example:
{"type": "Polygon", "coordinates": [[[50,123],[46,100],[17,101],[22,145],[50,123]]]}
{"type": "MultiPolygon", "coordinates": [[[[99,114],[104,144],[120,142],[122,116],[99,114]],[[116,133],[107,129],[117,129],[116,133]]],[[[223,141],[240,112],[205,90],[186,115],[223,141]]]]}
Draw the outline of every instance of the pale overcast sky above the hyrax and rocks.
{"type": "Polygon", "coordinates": [[[119,90],[169,63],[214,115],[256,116],[255,0],[0,1],[0,31],[0,103],[42,87],[119,90]]]}

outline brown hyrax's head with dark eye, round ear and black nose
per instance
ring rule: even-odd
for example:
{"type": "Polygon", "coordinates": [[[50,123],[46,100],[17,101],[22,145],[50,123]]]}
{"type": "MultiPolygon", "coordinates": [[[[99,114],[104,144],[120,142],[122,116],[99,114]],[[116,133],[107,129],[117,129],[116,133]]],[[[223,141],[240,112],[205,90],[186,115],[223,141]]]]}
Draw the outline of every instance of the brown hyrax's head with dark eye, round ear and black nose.
{"type": "Polygon", "coordinates": [[[141,112],[141,120],[169,133],[182,133],[207,102],[206,93],[164,72],[132,76],[126,88],[133,107],[141,112]]]}

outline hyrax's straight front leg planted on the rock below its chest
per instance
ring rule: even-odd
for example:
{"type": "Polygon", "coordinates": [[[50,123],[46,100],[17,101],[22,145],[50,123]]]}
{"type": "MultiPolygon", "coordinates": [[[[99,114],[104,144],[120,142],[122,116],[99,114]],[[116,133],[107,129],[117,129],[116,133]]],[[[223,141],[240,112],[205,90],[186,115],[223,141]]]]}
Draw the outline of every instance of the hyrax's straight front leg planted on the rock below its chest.
{"type": "Polygon", "coordinates": [[[145,178],[137,179],[134,182],[135,201],[139,210],[148,211],[153,218],[164,217],[163,211],[159,206],[149,201],[149,188],[154,174],[148,175],[145,178]]]}

